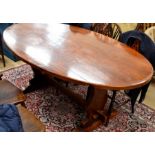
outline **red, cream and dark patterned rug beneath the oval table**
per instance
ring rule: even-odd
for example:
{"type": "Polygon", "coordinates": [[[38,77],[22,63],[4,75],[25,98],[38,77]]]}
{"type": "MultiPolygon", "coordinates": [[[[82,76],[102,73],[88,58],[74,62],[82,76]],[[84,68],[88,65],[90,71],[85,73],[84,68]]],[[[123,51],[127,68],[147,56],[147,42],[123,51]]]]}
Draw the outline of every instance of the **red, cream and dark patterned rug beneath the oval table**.
{"type": "MultiPolygon", "coordinates": [[[[17,87],[22,89],[28,86],[27,82],[14,82],[18,76],[18,81],[29,81],[32,79],[32,72],[28,66],[21,66],[16,69],[6,71],[3,79],[7,77],[17,87]],[[16,71],[15,71],[16,70],[16,71]],[[24,70],[24,71],[22,71],[24,70]],[[18,72],[19,71],[19,72],[18,72]],[[30,74],[28,74],[30,73],[30,74]],[[25,86],[23,86],[25,84],[25,86]]],[[[87,87],[82,85],[69,84],[69,88],[74,92],[86,97],[87,87]]],[[[110,91],[108,92],[111,93],[110,91]]],[[[57,90],[54,86],[40,88],[26,94],[26,106],[34,115],[46,126],[46,131],[70,132],[79,126],[80,121],[85,118],[85,112],[80,105],[71,100],[68,96],[57,90]]],[[[127,96],[121,91],[117,93],[117,102],[120,104],[127,100],[127,96]]],[[[109,100],[108,100],[109,102],[109,100]]],[[[144,104],[136,104],[135,113],[131,114],[130,103],[116,109],[118,115],[110,120],[108,127],[101,125],[96,132],[131,132],[131,131],[155,131],[155,110],[144,104]]]]}

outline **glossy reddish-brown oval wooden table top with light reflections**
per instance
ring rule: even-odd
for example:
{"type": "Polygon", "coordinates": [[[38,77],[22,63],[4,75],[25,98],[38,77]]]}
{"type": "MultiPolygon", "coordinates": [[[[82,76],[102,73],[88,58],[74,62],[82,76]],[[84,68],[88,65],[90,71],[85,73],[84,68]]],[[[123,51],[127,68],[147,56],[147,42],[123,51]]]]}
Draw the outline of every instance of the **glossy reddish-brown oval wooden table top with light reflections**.
{"type": "Polygon", "coordinates": [[[104,35],[65,24],[14,24],[3,38],[22,60],[67,81],[131,89],[150,81],[151,64],[104,35]]]}

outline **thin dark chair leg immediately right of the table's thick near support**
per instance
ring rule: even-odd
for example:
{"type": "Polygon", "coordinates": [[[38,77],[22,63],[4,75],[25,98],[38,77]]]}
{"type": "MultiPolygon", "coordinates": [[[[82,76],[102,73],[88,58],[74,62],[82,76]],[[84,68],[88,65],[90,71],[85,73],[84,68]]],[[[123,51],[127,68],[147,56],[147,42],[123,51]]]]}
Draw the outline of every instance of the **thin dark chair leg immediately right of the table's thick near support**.
{"type": "Polygon", "coordinates": [[[107,112],[107,119],[106,119],[106,122],[105,122],[105,126],[108,126],[109,118],[110,118],[110,115],[112,113],[113,103],[115,102],[115,97],[116,97],[116,90],[113,90],[113,95],[112,95],[111,103],[109,105],[109,109],[108,109],[108,112],[107,112]]]}

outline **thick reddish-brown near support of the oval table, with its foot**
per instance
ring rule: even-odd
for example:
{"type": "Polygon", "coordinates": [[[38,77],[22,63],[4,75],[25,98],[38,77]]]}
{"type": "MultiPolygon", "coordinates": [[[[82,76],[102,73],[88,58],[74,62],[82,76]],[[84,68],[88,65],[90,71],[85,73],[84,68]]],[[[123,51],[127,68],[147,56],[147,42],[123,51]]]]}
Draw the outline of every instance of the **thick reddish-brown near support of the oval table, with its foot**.
{"type": "Polygon", "coordinates": [[[104,117],[101,118],[98,111],[104,112],[106,102],[107,90],[89,86],[86,107],[87,119],[81,123],[82,131],[92,131],[103,124],[104,117]]]}

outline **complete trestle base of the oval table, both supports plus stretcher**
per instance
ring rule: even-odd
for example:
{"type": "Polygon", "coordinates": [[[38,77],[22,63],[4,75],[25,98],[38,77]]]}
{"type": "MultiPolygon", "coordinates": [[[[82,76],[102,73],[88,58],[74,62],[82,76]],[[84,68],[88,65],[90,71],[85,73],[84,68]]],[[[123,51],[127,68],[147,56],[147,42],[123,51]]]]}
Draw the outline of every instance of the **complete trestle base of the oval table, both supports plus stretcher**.
{"type": "MultiPolygon", "coordinates": [[[[66,95],[70,96],[74,101],[77,101],[81,104],[81,106],[86,110],[87,113],[87,119],[81,121],[81,127],[78,129],[75,129],[75,131],[92,131],[96,129],[99,125],[103,124],[104,122],[104,106],[107,102],[107,90],[95,88],[93,86],[89,86],[88,89],[88,96],[86,101],[83,100],[83,98],[73,93],[68,88],[65,88],[61,86],[58,82],[55,80],[48,78],[47,75],[44,76],[40,72],[35,72],[36,78],[31,81],[32,88],[37,89],[42,82],[47,82],[48,84],[52,84],[53,86],[56,86],[66,95]],[[39,75],[39,76],[37,76],[39,75]],[[40,83],[40,84],[39,84],[40,83]]],[[[27,89],[26,92],[31,92],[31,87],[27,89]]]]}

